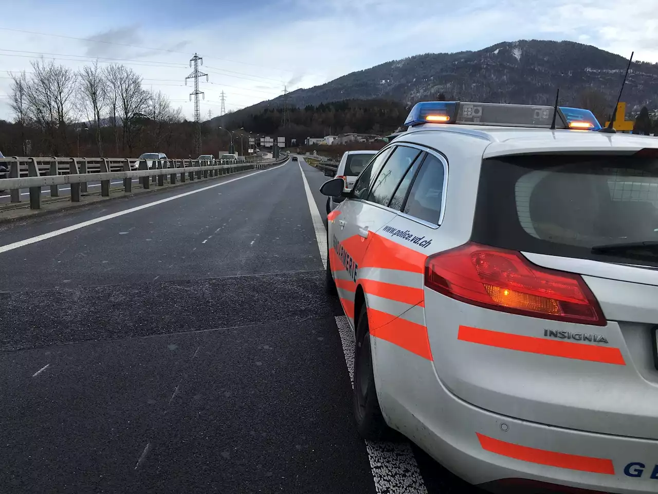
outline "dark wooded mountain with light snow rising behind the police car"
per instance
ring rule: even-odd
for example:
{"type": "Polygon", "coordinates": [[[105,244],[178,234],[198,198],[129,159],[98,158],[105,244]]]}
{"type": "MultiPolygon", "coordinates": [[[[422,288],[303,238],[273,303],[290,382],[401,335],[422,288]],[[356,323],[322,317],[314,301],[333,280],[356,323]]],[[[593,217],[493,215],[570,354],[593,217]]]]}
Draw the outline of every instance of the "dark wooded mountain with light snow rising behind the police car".
{"type": "MultiPolygon", "coordinates": [[[[628,60],[572,41],[505,41],[479,51],[426,53],[352,72],[309,89],[288,94],[288,105],[305,107],[343,99],[392,99],[409,106],[445,95],[446,99],[492,103],[553,104],[560,89],[562,105],[589,105],[611,111],[628,60]],[[591,95],[590,95],[591,96],[591,95]]],[[[658,64],[634,62],[622,101],[628,111],[658,108],[658,64]]],[[[254,111],[283,107],[284,97],[263,101],[226,116],[238,121],[254,111]]]]}

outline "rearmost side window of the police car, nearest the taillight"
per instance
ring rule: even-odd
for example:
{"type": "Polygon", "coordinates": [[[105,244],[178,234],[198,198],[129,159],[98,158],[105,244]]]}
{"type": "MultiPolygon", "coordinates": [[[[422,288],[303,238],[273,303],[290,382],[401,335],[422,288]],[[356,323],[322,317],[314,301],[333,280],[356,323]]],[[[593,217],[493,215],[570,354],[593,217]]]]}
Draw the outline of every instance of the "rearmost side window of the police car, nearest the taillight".
{"type": "Polygon", "coordinates": [[[438,157],[428,155],[413,181],[403,212],[438,225],[443,204],[445,171],[438,157]]]}

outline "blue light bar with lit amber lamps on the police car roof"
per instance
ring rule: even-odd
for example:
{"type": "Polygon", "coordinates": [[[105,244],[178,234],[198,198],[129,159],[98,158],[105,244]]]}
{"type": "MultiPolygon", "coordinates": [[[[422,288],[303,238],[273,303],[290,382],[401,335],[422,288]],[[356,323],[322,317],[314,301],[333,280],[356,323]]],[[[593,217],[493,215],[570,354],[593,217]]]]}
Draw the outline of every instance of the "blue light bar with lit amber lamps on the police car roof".
{"type": "MultiPolygon", "coordinates": [[[[555,128],[599,130],[594,114],[582,108],[558,107],[555,128]]],[[[426,123],[501,125],[550,128],[553,107],[547,105],[507,105],[503,103],[465,103],[463,101],[423,101],[409,113],[406,126],[426,123]]]]}

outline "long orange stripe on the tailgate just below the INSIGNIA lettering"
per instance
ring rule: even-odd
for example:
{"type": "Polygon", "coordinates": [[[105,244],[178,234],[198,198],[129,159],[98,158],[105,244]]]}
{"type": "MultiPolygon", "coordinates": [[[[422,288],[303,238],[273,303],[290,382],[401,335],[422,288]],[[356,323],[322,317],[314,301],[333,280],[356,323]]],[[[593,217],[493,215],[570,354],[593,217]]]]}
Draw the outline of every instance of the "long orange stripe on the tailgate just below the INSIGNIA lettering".
{"type": "Polygon", "coordinates": [[[625,366],[624,356],[619,348],[609,346],[595,346],[593,344],[571,343],[569,341],[553,341],[532,336],[513,335],[501,333],[490,329],[459,326],[457,339],[470,343],[518,350],[519,352],[550,355],[554,357],[572,358],[574,360],[588,360],[590,362],[603,362],[603,364],[617,364],[625,366]]]}

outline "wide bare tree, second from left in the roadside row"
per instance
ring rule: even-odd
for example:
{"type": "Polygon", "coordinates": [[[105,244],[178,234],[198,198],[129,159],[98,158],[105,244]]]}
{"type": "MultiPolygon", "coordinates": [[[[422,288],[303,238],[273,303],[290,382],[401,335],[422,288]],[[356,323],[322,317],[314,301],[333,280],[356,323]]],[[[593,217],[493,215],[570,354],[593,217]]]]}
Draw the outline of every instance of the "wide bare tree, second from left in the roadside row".
{"type": "Polygon", "coordinates": [[[53,154],[69,151],[66,130],[75,117],[76,73],[43,59],[31,65],[32,76],[24,86],[28,119],[43,130],[53,154]]]}

